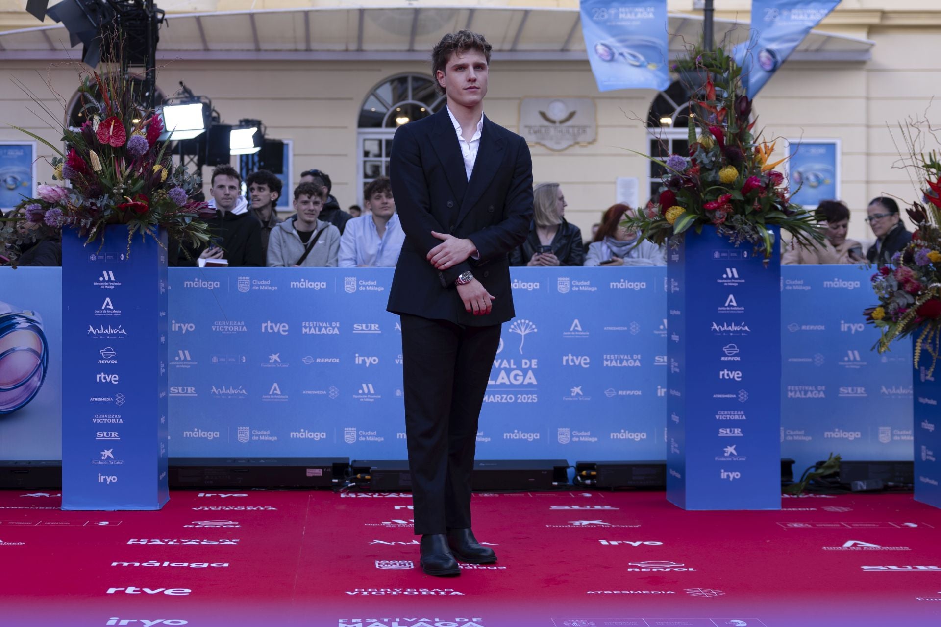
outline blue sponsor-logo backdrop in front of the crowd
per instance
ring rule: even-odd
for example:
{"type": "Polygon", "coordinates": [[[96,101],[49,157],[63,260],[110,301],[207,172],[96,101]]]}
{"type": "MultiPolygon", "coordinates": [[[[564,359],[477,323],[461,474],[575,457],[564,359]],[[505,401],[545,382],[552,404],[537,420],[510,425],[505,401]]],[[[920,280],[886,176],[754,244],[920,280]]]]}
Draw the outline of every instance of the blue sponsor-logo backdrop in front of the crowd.
{"type": "MultiPolygon", "coordinates": [[[[798,471],[831,451],[912,459],[911,345],[870,352],[870,273],[782,268],[781,454],[798,471]]],[[[665,280],[665,268],[514,269],[517,318],[477,457],[665,459],[665,280]]],[[[169,283],[171,456],[406,458],[390,269],[170,269],[169,283]]],[[[39,314],[50,352],[36,398],[0,407],[0,459],[60,458],[61,377],[74,374],[58,362],[60,285],[56,268],[0,269],[0,302],[39,314]]],[[[115,409],[89,429],[112,431],[115,409]]]]}

